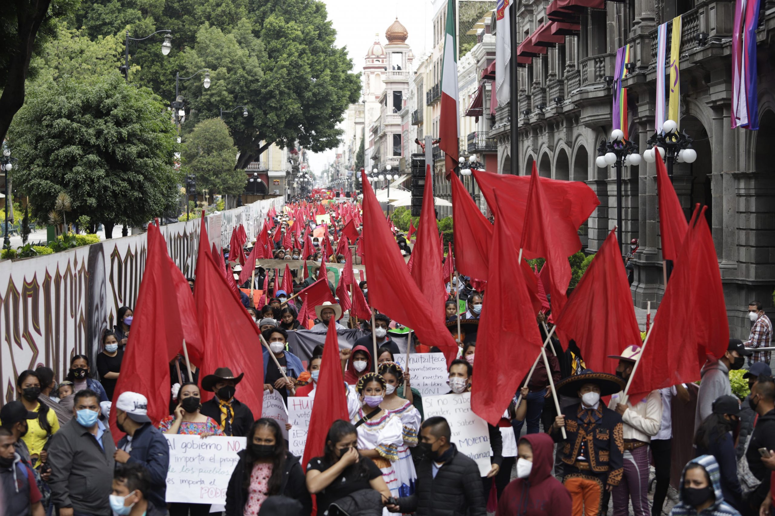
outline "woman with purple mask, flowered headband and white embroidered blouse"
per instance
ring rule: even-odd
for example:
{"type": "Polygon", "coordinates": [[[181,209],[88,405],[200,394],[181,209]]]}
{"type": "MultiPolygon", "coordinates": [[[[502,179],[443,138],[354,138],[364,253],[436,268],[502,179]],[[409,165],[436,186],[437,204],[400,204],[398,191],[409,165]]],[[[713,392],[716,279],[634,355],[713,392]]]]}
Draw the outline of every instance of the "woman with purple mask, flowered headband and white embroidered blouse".
{"type": "Polygon", "coordinates": [[[398,448],[404,444],[404,432],[401,418],[380,406],[386,388],[387,382],[379,374],[367,373],[360,377],[356,392],[361,407],[353,416],[353,425],[358,432],[358,452],[382,470],[391,497],[399,497],[401,484],[394,463],[398,461],[398,448]]]}

